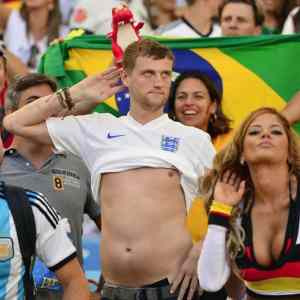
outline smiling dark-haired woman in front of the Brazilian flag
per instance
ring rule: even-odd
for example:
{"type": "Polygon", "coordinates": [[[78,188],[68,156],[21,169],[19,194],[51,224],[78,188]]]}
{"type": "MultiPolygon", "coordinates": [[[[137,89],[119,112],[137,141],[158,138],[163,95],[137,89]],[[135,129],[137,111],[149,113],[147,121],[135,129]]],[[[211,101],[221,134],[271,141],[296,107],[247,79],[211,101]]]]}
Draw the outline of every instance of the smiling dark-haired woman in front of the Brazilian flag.
{"type": "Polygon", "coordinates": [[[179,75],[171,90],[170,117],[206,131],[217,150],[228,141],[230,119],[222,110],[222,94],[210,77],[199,71],[179,75]]]}

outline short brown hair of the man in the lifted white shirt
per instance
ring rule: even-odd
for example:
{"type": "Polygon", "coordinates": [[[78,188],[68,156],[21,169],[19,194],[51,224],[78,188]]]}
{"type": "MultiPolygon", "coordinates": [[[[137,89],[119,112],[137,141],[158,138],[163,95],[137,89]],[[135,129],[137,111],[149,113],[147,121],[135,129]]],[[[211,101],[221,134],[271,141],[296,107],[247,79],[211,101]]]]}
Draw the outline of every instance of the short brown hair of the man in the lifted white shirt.
{"type": "Polygon", "coordinates": [[[123,67],[124,70],[131,72],[136,63],[136,59],[141,57],[151,57],[153,59],[168,58],[174,61],[174,55],[168,47],[157,41],[141,39],[131,43],[124,51],[123,67]]]}

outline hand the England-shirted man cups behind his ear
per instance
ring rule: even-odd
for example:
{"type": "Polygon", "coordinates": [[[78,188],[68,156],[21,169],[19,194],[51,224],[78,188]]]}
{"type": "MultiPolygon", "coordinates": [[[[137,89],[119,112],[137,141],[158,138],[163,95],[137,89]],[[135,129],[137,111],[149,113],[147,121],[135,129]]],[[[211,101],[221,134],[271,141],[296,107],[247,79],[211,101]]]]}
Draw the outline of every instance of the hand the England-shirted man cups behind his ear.
{"type": "Polygon", "coordinates": [[[124,88],[120,73],[121,69],[110,67],[101,74],[88,76],[70,88],[72,97],[80,97],[96,104],[102,103],[124,88]]]}

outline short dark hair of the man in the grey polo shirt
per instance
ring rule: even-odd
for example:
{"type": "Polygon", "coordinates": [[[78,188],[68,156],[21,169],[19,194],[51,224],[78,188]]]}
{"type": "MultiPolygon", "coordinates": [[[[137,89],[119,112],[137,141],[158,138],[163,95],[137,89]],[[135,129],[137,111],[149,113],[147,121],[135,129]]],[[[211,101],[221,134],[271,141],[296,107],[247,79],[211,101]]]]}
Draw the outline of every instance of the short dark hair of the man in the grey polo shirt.
{"type": "Polygon", "coordinates": [[[47,84],[53,93],[57,90],[56,81],[45,74],[30,73],[24,76],[17,77],[9,89],[10,91],[8,96],[10,108],[17,109],[19,107],[21,93],[23,91],[41,84],[47,84]]]}

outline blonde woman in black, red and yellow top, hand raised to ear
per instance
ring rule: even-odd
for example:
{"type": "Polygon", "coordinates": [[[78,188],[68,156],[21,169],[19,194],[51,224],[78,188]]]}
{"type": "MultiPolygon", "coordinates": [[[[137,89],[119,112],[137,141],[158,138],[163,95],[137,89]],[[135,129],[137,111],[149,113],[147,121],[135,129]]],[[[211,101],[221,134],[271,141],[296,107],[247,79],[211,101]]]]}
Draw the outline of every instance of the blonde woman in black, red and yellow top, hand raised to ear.
{"type": "Polygon", "coordinates": [[[247,299],[299,299],[299,179],[299,137],[287,119],[272,108],[251,113],[202,181],[205,290],[222,287],[233,270],[247,299]]]}

